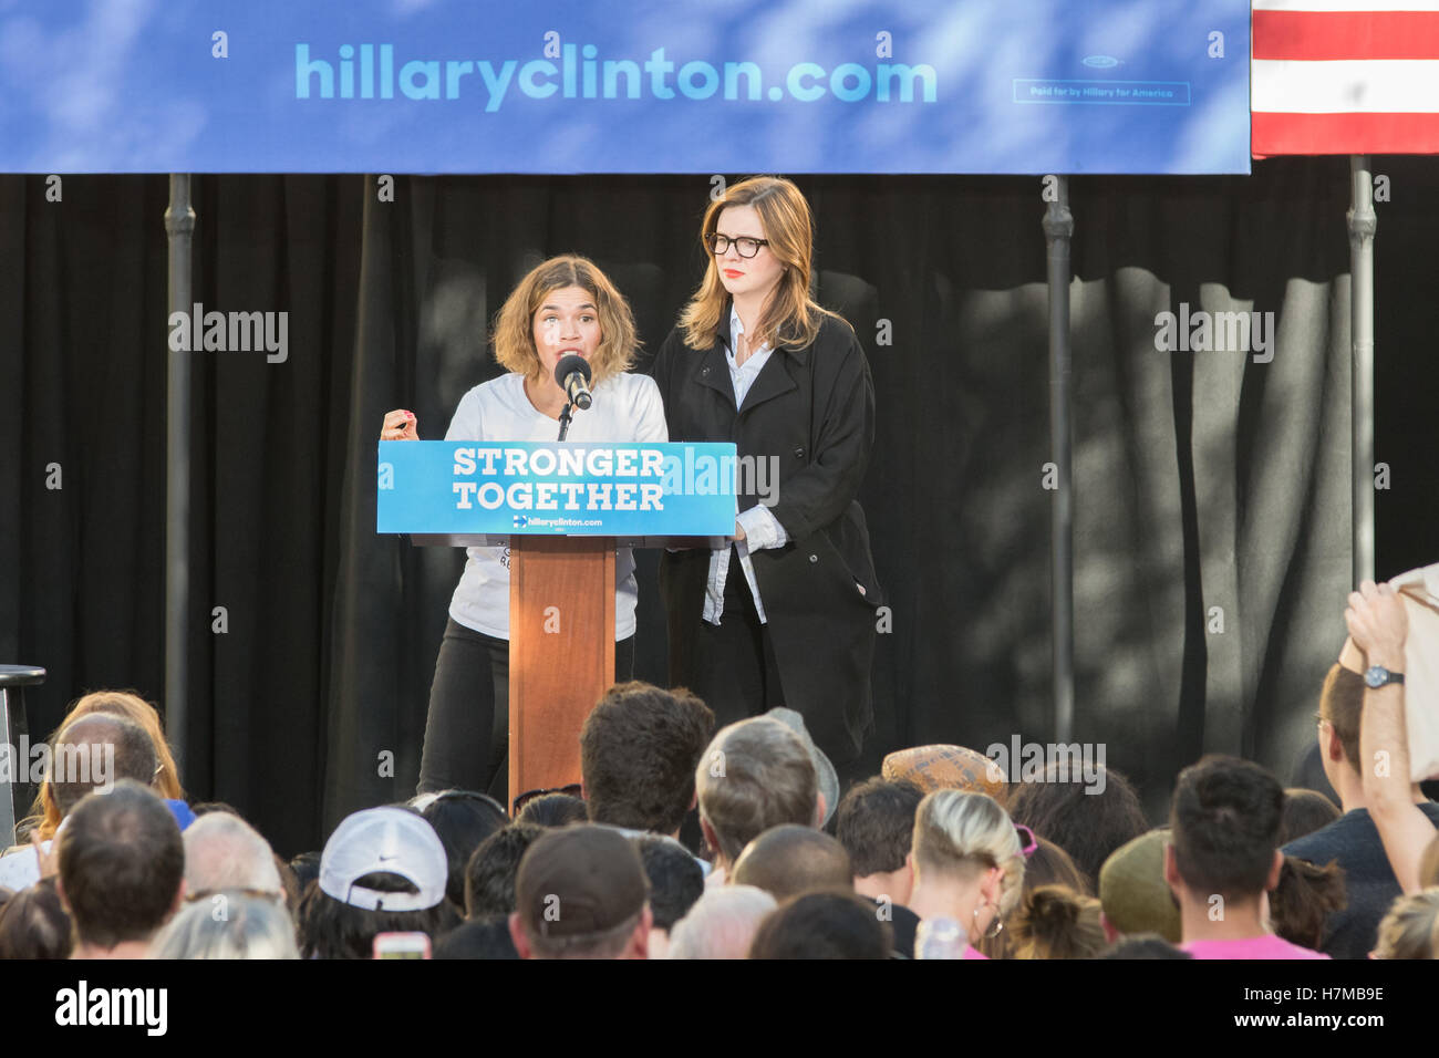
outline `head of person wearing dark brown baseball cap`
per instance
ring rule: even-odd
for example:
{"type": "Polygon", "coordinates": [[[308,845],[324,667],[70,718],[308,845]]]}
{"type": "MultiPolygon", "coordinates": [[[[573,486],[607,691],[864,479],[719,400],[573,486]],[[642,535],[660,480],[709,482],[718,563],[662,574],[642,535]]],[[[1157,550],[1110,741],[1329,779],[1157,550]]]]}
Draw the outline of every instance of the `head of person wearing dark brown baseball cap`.
{"type": "Polygon", "coordinates": [[[548,831],[519,864],[509,936],[521,959],[645,959],[645,868],[607,826],[548,831]]]}

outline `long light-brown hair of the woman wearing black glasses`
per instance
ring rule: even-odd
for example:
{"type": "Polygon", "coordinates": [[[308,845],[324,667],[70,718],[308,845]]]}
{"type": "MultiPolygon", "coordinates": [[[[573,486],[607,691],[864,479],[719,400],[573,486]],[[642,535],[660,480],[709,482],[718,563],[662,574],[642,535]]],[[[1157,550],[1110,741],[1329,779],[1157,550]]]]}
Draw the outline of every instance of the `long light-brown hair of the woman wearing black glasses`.
{"type": "Polygon", "coordinates": [[[755,327],[758,338],[776,348],[813,344],[820,322],[835,314],[810,298],[814,219],[800,189],[783,177],[750,177],[711,202],[705,210],[699,243],[705,248],[709,263],[705,266],[705,278],[679,314],[685,344],[691,348],[709,348],[730,311],[730,292],[720,282],[720,268],[709,252],[709,236],[715,233],[720,213],[730,206],[754,206],[770,243],[767,249],[784,265],[784,273],[766,301],[755,327]]]}

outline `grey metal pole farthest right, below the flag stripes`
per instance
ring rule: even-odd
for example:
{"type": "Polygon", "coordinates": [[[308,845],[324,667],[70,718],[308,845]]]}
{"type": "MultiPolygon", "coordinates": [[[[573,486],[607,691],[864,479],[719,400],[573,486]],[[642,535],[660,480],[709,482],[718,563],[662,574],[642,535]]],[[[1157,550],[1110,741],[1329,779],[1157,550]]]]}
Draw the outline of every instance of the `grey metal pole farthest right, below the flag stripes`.
{"type": "Polygon", "coordinates": [[[1374,178],[1350,155],[1350,389],[1353,577],[1374,579],[1374,178]]]}

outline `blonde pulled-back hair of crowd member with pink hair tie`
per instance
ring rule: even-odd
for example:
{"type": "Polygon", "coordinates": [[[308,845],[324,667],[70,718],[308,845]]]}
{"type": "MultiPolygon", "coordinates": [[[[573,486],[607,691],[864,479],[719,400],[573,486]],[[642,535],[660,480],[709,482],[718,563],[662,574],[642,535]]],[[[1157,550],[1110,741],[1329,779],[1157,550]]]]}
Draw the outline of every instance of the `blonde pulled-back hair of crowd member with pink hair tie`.
{"type": "Polygon", "coordinates": [[[914,816],[914,862],[918,874],[947,874],[970,882],[1000,868],[999,917],[1019,903],[1025,885],[1025,852],[1009,813],[987,793],[935,790],[914,816]]]}

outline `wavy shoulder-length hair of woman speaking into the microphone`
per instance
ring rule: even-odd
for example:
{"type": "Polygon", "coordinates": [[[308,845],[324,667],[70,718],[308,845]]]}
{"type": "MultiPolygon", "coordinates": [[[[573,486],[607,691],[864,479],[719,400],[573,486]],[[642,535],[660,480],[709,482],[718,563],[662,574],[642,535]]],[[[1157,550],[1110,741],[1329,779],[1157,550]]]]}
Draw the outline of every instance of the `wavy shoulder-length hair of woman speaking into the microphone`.
{"type": "Polygon", "coordinates": [[[540,350],[535,348],[534,318],[544,299],[554,291],[578,286],[594,298],[600,317],[600,347],[590,360],[590,386],[599,386],[614,374],[627,371],[635,363],[639,338],[635,334],[635,314],[609,276],[589,258],[564,253],[550,258],[519,281],[495,314],[492,341],[495,360],[501,367],[535,381],[544,380],[540,350]]]}

